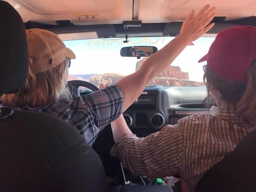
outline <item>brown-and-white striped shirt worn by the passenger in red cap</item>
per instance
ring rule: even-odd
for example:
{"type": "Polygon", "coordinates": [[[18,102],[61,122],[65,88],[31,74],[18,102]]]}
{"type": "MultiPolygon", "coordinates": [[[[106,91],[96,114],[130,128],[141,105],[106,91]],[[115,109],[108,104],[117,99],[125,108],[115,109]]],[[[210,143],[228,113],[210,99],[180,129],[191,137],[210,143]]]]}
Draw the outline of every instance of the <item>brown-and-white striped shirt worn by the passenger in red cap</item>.
{"type": "Polygon", "coordinates": [[[111,149],[133,174],[151,179],[179,174],[190,191],[203,175],[246,134],[256,129],[234,110],[212,107],[210,113],[187,116],[145,138],[123,136],[111,149]]]}

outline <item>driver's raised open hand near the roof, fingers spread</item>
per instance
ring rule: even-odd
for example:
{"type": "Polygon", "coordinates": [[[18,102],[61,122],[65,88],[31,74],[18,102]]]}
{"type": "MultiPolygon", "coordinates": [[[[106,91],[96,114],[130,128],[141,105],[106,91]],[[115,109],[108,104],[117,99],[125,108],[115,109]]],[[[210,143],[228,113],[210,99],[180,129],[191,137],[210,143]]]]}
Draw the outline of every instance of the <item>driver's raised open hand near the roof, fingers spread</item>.
{"type": "Polygon", "coordinates": [[[208,25],[215,16],[215,7],[208,10],[209,8],[210,4],[205,5],[196,16],[194,16],[195,11],[193,10],[183,22],[180,35],[192,42],[209,31],[215,24],[208,25]]]}

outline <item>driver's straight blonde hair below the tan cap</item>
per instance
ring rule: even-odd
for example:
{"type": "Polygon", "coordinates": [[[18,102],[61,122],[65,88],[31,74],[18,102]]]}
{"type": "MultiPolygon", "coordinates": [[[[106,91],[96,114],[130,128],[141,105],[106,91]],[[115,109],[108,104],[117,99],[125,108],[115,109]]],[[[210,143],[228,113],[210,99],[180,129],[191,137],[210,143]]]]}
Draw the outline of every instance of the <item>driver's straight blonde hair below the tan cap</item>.
{"type": "Polygon", "coordinates": [[[39,73],[33,73],[29,67],[24,87],[15,94],[4,94],[4,105],[34,108],[52,104],[60,97],[70,98],[70,92],[63,82],[66,68],[66,59],[59,65],[39,73]]]}

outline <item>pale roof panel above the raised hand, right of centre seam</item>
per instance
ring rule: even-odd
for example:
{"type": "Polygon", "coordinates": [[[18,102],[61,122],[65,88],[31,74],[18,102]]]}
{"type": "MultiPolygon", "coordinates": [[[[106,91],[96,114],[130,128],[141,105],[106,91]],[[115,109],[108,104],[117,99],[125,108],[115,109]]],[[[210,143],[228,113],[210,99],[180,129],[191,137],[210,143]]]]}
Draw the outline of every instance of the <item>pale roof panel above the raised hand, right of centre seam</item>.
{"type": "MultiPolygon", "coordinates": [[[[195,10],[196,15],[206,4],[205,2],[202,0],[140,0],[136,13],[138,20],[142,20],[142,23],[184,21],[191,10],[195,10]]],[[[255,0],[209,0],[207,3],[216,6],[216,17],[226,17],[226,20],[255,15],[255,0]]]]}

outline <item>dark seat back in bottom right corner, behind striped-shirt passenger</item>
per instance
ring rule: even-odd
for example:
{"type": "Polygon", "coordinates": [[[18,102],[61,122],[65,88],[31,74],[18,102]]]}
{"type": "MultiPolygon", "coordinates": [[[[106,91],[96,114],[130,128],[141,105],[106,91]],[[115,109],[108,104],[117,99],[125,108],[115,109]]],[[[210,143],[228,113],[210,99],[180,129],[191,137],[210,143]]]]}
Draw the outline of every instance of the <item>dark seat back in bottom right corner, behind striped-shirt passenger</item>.
{"type": "Polygon", "coordinates": [[[196,186],[196,192],[256,191],[256,130],[214,165],[196,186]]]}

